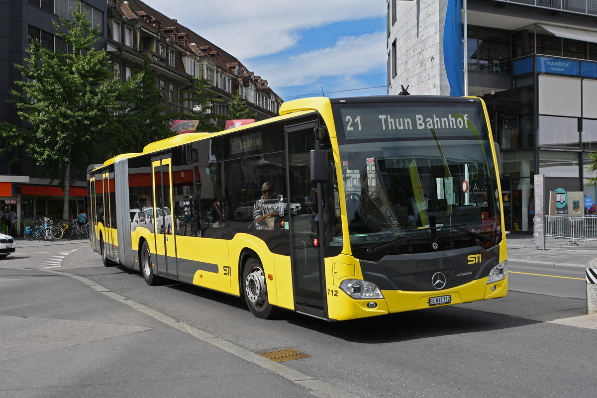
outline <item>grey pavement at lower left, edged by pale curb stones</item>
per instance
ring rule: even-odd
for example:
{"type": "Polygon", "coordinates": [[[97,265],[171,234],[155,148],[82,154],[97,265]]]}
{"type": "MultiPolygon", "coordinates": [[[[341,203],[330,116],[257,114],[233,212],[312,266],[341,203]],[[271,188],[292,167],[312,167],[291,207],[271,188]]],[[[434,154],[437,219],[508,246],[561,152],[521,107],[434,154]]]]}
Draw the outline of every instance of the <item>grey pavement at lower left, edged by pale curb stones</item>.
{"type": "Polygon", "coordinates": [[[352,397],[81,276],[0,268],[0,286],[2,397],[352,397]]]}

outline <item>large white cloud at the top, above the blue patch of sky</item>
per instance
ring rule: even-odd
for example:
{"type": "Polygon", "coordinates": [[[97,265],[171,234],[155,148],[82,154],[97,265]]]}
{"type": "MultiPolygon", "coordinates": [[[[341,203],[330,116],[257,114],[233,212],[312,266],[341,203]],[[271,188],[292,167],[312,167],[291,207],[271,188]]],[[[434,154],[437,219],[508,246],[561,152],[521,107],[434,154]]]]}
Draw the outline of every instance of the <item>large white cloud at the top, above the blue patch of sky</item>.
{"type": "Polygon", "coordinates": [[[386,15],[380,0],[238,0],[189,2],[144,0],[162,14],[176,18],[243,63],[292,47],[300,31],[339,21],[386,15]]]}

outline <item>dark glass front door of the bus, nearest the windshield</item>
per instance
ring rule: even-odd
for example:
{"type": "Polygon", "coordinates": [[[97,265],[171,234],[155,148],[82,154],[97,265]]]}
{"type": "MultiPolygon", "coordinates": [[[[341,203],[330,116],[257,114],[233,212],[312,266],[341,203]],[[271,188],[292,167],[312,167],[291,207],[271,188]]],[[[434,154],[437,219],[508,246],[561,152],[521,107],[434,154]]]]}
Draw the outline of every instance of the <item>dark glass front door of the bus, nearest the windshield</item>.
{"type": "Polygon", "coordinates": [[[325,314],[324,275],[319,245],[319,204],[316,186],[309,182],[309,153],[315,144],[316,121],[287,127],[288,206],[290,212],[291,264],[294,304],[297,311],[315,316],[325,314]],[[291,208],[300,203],[301,208],[291,208]],[[303,204],[304,203],[304,204],[303,204]]]}

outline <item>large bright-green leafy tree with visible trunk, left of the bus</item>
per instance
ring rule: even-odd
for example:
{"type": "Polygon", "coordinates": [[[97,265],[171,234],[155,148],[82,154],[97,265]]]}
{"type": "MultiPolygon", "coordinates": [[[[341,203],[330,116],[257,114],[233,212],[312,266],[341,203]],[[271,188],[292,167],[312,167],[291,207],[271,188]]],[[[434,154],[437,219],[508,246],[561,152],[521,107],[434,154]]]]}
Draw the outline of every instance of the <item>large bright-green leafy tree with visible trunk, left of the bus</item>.
{"type": "Polygon", "coordinates": [[[16,81],[22,92],[11,92],[20,118],[32,125],[22,132],[24,150],[37,165],[44,165],[48,176],[63,172],[64,218],[69,210],[71,165],[84,171],[88,163],[116,151],[122,141],[121,134],[115,134],[113,115],[124,108],[123,93],[142,77],[139,74],[122,84],[110,72],[106,52],[94,50],[100,30],[81,13],[79,2],[71,14],[71,21],[60,18],[62,25],[53,21],[56,36],[66,42],[69,52],[51,51],[34,42],[27,49],[25,64],[15,64],[24,77],[16,81]]]}

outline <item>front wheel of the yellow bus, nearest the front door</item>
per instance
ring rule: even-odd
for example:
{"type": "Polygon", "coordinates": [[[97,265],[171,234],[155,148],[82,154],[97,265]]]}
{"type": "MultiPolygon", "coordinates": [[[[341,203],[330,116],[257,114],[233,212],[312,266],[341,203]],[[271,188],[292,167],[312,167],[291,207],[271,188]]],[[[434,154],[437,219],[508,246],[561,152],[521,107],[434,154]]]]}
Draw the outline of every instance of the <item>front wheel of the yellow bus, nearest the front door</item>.
{"type": "Polygon", "coordinates": [[[263,266],[256,258],[249,258],[243,272],[243,291],[247,306],[254,316],[270,319],[275,316],[276,308],[267,301],[267,287],[263,266]]]}

